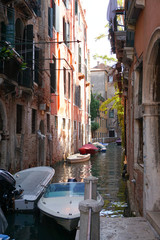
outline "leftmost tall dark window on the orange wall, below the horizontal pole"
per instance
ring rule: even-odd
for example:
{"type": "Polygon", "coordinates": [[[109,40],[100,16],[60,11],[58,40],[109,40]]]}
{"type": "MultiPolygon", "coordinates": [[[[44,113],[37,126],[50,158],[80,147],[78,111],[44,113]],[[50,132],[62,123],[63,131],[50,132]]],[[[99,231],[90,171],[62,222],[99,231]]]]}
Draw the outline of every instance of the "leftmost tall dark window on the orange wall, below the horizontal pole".
{"type": "Polygon", "coordinates": [[[56,58],[53,57],[53,63],[50,63],[50,87],[51,93],[55,93],[57,90],[56,84],[56,58]]]}

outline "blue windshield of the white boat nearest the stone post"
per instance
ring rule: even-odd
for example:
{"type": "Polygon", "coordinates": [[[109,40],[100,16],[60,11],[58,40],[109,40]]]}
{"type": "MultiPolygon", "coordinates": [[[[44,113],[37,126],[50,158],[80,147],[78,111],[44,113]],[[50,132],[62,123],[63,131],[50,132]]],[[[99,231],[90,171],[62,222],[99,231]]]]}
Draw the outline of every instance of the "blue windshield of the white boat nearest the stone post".
{"type": "Polygon", "coordinates": [[[52,183],[44,194],[45,198],[64,197],[64,196],[82,196],[84,195],[84,183],[67,182],[67,183],[52,183]]]}

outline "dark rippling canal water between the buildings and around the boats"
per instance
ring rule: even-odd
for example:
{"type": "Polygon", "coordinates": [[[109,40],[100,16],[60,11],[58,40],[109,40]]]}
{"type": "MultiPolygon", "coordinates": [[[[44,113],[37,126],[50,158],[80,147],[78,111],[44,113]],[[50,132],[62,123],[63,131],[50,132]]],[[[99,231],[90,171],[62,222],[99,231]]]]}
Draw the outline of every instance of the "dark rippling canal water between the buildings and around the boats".
{"type": "MultiPolygon", "coordinates": [[[[85,163],[57,163],[54,166],[54,182],[67,182],[68,178],[83,178],[91,174],[98,178],[98,191],[103,196],[103,217],[123,217],[127,207],[125,189],[126,182],[122,172],[121,146],[112,143],[107,146],[106,153],[98,153],[85,163]]],[[[76,232],[68,233],[48,217],[36,214],[8,214],[6,234],[15,240],[74,240],[76,232]]]]}

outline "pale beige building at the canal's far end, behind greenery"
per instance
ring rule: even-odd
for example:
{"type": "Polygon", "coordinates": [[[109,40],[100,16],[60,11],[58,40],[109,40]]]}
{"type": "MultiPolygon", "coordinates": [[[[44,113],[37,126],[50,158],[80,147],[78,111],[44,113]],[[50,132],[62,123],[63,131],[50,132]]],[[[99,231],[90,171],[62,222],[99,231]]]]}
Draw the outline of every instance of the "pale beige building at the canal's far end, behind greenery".
{"type": "MultiPolygon", "coordinates": [[[[102,103],[108,98],[112,98],[115,93],[113,82],[114,69],[104,65],[103,63],[97,64],[90,71],[92,93],[99,96],[102,103]]],[[[111,108],[113,103],[110,103],[111,108]]],[[[94,133],[96,141],[110,142],[115,141],[115,138],[120,137],[120,129],[117,119],[117,111],[110,109],[107,114],[99,111],[99,115],[95,119],[100,128],[94,133]]]]}

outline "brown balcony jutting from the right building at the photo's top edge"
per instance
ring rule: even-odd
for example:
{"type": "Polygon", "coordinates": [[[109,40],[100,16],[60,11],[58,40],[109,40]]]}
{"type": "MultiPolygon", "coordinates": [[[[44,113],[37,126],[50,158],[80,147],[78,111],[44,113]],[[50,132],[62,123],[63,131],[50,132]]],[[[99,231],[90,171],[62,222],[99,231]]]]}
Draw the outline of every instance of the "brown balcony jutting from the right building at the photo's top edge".
{"type": "Polygon", "coordinates": [[[127,20],[128,24],[135,25],[141,11],[145,7],[145,0],[129,0],[126,1],[127,5],[127,20]]]}

